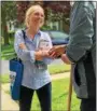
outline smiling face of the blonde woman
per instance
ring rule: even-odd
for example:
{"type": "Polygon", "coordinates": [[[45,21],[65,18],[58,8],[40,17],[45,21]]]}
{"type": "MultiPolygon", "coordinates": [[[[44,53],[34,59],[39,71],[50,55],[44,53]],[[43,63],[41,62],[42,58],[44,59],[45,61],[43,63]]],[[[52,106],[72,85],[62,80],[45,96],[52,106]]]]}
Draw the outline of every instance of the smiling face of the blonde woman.
{"type": "Polygon", "coordinates": [[[36,9],[34,12],[30,16],[30,26],[39,26],[43,24],[44,20],[44,12],[42,9],[36,9]]]}

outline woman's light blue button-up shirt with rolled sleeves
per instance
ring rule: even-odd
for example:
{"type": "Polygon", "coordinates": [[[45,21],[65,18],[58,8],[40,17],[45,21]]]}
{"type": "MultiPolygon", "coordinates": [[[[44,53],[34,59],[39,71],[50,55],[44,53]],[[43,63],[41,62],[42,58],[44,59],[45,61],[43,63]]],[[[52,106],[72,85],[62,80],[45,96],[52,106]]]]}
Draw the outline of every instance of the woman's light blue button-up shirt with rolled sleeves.
{"type": "Polygon", "coordinates": [[[34,58],[34,51],[38,50],[39,43],[41,40],[47,41],[47,45],[51,48],[52,47],[52,41],[47,33],[43,31],[39,31],[34,39],[30,39],[27,37],[27,32],[25,30],[26,38],[23,38],[22,30],[16,31],[15,33],[15,41],[14,41],[14,48],[17,54],[17,56],[23,60],[24,64],[24,74],[23,74],[23,82],[22,85],[38,89],[45,84],[51,82],[51,75],[47,71],[47,65],[51,64],[52,59],[44,57],[41,63],[36,64],[34,58]],[[19,44],[25,43],[27,46],[27,50],[19,48],[19,44]]]}

